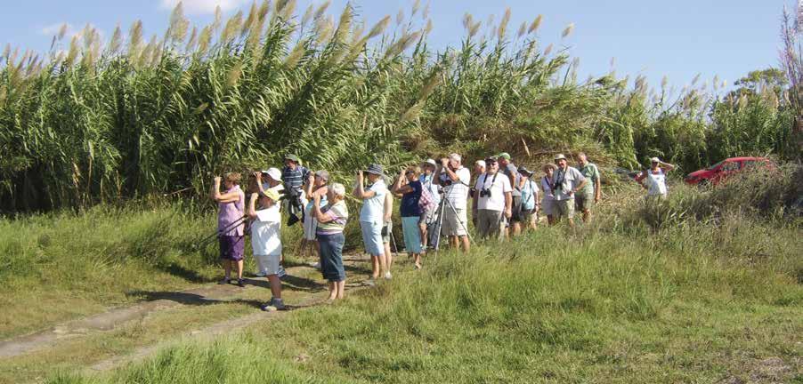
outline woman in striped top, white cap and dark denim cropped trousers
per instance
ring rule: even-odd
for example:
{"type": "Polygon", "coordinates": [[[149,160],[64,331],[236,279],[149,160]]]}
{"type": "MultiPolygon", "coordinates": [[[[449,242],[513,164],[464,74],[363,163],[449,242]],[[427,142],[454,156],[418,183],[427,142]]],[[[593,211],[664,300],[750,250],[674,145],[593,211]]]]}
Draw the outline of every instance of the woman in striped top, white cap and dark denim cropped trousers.
{"type": "Polygon", "coordinates": [[[327,191],[326,207],[320,207],[323,196],[312,196],[312,212],[318,220],[316,233],[320,244],[320,274],[328,281],[328,300],[341,300],[345,291],[345,268],[343,268],[343,228],[348,220],[345,206],[345,187],[334,183],[327,191]]]}

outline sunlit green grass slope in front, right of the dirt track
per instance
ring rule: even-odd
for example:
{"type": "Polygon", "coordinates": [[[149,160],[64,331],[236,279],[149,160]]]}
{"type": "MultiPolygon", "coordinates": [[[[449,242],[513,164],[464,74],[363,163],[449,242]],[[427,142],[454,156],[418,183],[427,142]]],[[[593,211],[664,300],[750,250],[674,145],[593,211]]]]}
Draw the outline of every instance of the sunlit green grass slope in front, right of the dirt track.
{"type": "Polygon", "coordinates": [[[442,252],[338,305],[50,382],[803,381],[799,220],[678,219],[721,193],[674,190],[672,226],[624,191],[577,233],[442,252]]]}

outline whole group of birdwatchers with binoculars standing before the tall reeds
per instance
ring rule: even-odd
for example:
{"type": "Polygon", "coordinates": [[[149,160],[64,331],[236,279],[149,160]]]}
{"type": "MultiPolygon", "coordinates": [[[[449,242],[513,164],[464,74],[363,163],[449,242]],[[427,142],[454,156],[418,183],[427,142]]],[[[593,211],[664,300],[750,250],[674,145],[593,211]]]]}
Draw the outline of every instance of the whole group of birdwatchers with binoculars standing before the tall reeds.
{"type": "MultiPolygon", "coordinates": [[[[524,166],[517,167],[505,152],[476,161],[474,179],[455,153],[442,158],[440,164],[428,159],[406,167],[393,180],[385,181],[380,164],[356,172],[352,195],[361,200],[362,241],[372,264],[367,284],[393,278],[390,242],[394,196],[401,198],[405,249],[418,269],[428,246],[437,244],[441,236],[447,236],[452,247],[469,251],[469,199],[480,239],[520,235],[537,227],[539,214],[546,215],[550,225],[565,220],[573,227],[577,211],[582,213],[582,220],[591,220],[592,208],[602,196],[600,172],[585,154],[579,153],[577,159],[577,167],[573,167],[566,156],[558,154],[554,164],[541,167],[543,174],[538,177],[524,166]]],[[[673,167],[657,158],[652,160],[653,167],[637,181],[650,195],[665,196],[665,175],[673,167]]],[[[236,284],[244,286],[243,254],[249,223],[257,275],[267,276],[271,285],[272,299],[263,309],[285,308],[281,299],[280,278],[285,272],[281,267],[280,230],[281,212],[287,212],[288,222],[301,220],[302,241],[318,255],[316,267],[328,280],[328,300],[342,299],[346,277],[343,231],[349,218],[345,186],[330,183],[326,171],[305,168],[295,155],[285,156],[282,170],[269,168],[253,176],[255,185],[248,187],[248,200],[239,186],[239,173],[217,177],[212,186],[210,196],[219,204],[218,238],[224,269],[220,284],[235,281],[232,274],[236,273],[236,284]]]]}

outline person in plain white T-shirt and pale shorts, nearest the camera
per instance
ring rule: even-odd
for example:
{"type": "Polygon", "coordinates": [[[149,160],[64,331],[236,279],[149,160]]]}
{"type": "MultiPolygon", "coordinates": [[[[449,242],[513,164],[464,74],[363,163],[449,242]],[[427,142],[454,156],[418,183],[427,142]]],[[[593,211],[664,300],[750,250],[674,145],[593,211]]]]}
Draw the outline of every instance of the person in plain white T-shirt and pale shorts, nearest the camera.
{"type": "Polygon", "coordinates": [[[268,188],[263,194],[251,194],[248,203],[248,218],[251,219],[251,250],[256,266],[264,271],[271,284],[271,300],[266,302],[264,311],[282,310],[285,308],[281,300],[281,280],[279,269],[281,263],[281,213],[279,212],[279,192],[268,188]],[[259,210],[256,210],[257,200],[259,210]]]}

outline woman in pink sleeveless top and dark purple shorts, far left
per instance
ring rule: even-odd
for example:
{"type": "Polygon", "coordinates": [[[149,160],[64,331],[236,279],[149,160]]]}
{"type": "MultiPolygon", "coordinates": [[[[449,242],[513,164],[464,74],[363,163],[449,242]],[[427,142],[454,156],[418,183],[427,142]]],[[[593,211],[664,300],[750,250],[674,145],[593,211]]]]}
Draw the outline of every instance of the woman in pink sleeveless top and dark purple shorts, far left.
{"type": "Polygon", "coordinates": [[[229,284],[231,269],[237,269],[237,285],[245,287],[242,280],[243,251],[245,250],[244,209],[246,194],[239,188],[241,176],[237,172],[224,175],[224,193],[220,193],[221,178],[215,177],[211,197],[217,202],[217,231],[220,244],[220,258],[223,260],[223,280],[219,284],[229,284]]]}

